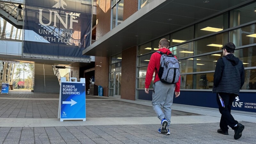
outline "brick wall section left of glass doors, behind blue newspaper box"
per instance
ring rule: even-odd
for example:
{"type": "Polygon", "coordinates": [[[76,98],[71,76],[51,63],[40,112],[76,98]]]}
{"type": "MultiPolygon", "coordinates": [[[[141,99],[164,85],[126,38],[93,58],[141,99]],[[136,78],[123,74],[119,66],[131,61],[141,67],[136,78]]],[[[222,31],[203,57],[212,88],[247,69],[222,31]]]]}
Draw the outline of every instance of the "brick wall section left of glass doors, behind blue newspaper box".
{"type": "Polygon", "coordinates": [[[108,96],[109,57],[95,57],[95,83],[103,87],[103,96],[108,96]],[[101,62],[101,63],[100,63],[101,62]],[[100,65],[101,67],[96,67],[100,65]]]}

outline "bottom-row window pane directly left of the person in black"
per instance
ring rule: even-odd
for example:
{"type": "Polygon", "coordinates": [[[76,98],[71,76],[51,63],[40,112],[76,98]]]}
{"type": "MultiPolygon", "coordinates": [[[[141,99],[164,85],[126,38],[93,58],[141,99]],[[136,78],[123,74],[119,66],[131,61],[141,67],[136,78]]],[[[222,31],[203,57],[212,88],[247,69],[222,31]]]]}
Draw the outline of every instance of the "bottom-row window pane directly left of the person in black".
{"type": "Polygon", "coordinates": [[[214,73],[194,74],[194,89],[212,89],[214,73]]]}

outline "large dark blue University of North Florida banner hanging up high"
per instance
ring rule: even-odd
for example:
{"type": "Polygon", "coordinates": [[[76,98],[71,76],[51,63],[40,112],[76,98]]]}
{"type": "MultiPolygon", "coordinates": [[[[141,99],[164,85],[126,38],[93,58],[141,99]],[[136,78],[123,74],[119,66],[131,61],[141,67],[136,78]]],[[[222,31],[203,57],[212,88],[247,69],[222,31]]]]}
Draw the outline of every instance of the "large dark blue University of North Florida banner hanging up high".
{"type": "Polygon", "coordinates": [[[92,4],[81,0],[26,0],[24,53],[86,57],[92,4]]]}

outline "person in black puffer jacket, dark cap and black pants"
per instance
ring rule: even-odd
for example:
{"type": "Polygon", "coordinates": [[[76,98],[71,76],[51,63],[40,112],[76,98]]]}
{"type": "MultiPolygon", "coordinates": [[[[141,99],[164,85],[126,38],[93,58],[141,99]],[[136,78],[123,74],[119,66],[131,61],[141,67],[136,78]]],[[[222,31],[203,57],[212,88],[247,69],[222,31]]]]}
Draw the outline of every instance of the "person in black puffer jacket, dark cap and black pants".
{"type": "Polygon", "coordinates": [[[228,126],[235,131],[234,138],[242,136],[244,125],[239,124],[231,115],[231,106],[244,84],[244,65],[241,60],[234,56],[235,44],[227,43],[222,47],[223,57],[216,63],[213,78],[212,92],[217,93],[219,105],[220,129],[218,133],[228,135],[228,126]]]}

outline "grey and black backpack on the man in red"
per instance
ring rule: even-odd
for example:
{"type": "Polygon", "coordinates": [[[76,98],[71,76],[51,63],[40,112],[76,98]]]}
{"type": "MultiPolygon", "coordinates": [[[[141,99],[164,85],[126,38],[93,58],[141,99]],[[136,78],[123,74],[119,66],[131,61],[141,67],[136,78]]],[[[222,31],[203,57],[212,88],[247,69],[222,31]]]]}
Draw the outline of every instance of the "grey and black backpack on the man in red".
{"type": "MultiPolygon", "coordinates": [[[[175,84],[179,81],[180,78],[180,63],[174,57],[173,54],[167,55],[164,52],[156,51],[160,53],[160,68],[158,73],[158,77],[160,78],[161,82],[167,84],[175,84]]],[[[157,71],[157,69],[156,69],[157,71]]]]}

